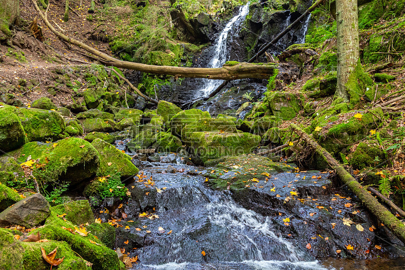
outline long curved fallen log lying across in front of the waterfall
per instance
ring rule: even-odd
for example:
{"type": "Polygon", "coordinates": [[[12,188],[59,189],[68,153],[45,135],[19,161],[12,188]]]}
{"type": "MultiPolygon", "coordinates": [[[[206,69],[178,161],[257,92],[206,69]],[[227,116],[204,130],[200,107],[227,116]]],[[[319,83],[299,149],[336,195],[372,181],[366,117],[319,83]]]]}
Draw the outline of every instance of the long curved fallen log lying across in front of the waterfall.
{"type": "Polygon", "coordinates": [[[157,66],[146,65],[141,63],[134,63],[128,61],[121,61],[111,57],[105,53],[97,51],[96,49],[74,40],[65,34],[58,32],[55,27],[48,21],[46,16],[39,10],[35,0],[31,0],[39,17],[45,22],[49,29],[57,35],[61,40],[76,45],[87,52],[98,56],[103,64],[107,66],[115,66],[118,68],[126,68],[138,70],[146,73],[173,75],[177,78],[206,78],[213,80],[239,80],[247,78],[268,79],[273,75],[274,69],[277,68],[276,64],[252,64],[252,63],[239,63],[232,66],[224,65],[221,68],[192,68],[192,67],[177,67],[177,66],[157,66]]]}

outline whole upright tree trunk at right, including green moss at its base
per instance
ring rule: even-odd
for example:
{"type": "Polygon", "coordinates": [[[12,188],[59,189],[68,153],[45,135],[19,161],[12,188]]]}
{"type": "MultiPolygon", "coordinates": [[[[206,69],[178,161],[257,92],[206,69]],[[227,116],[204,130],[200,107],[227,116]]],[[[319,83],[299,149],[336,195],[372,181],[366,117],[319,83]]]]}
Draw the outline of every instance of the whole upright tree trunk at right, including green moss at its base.
{"type": "Polygon", "coordinates": [[[359,60],[357,0],[336,0],[338,84],[335,100],[356,104],[371,79],[359,60]]]}

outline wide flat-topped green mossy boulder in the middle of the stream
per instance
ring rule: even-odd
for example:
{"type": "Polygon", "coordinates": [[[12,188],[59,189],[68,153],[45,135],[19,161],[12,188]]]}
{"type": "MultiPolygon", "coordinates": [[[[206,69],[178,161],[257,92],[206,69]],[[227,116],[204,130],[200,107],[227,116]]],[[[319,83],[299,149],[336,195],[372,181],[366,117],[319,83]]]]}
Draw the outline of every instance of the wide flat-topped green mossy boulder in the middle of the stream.
{"type": "Polygon", "coordinates": [[[224,156],[238,156],[252,152],[261,138],[251,133],[194,132],[190,135],[193,162],[204,164],[224,156]]]}

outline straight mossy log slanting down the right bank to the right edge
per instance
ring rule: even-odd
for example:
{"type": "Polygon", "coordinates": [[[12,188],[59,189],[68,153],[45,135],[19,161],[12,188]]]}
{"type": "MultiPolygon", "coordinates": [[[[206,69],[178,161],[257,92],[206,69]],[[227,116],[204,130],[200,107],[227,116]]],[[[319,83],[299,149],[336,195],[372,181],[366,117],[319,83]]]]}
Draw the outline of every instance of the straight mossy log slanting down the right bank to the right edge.
{"type": "Polygon", "coordinates": [[[308,134],[306,134],[297,125],[291,124],[291,129],[297,133],[303,140],[305,140],[315,151],[321,156],[329,165],[336,171],[336,174],[345,183],[351,191],[358,197],[358,199],[375,215],[402,243],[405,243],[405,225],[399,221],[389,210],[382,206],[376,198],[373,197],[357,182],[356,179],[348,173],[342,165],[340,165],[332,155],[323,149],[316,141],[314,141],[308,134]]]}

